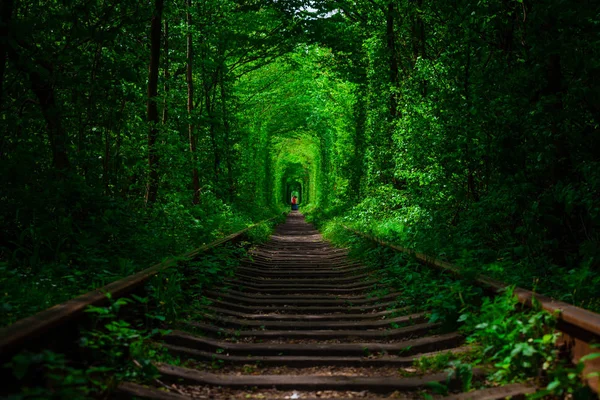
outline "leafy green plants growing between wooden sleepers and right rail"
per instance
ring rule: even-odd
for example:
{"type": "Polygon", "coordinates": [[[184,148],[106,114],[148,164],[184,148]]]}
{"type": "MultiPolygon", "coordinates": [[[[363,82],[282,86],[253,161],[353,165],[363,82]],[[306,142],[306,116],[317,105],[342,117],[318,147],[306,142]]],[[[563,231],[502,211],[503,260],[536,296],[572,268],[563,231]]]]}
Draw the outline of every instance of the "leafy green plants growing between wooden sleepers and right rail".
{"type": "MultiPolygon", "coordinates": [[[[468,382],[464,391],[481,385],[530,381],[545,388],[533,398],[597,398],[581,377],[583,362],[600,357],[600,350],[578,365],[569,364],[557,347],[561,334],[554,328],[556,316],[535,303],[531,309],[521,307],[512,289],[489,297],[474,284],[477,268],[465,270],[457,278],[425,266],[410,255],[351,235],[340,225],[328,225],[326,237],[337,245],[347,246],[350,257],[378,271],[379,281],[388,285],[389,290],[402,293],[396,308],[429,311],[429,321],[441,323],[441,331],[459,330],[467,336],[471,346],[468,352],[421,359],[415,364],[418,369],[462,374],[463,384],[468,382]],[[486,382],[471,381],[470,371],[476,367],[489,369],[486,382]]],[[[598,373],[587,377],[592,376],[598,373]]],[[[436,385],[434,389],[440,394],[448,391],[444,385],[436,385]]]]}

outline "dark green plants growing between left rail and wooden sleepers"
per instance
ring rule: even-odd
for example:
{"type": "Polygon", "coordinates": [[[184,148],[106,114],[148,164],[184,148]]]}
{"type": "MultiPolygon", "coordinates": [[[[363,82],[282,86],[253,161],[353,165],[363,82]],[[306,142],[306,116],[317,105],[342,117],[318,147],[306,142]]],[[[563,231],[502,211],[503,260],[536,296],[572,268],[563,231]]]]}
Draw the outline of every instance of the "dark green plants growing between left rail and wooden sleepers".
{"type": "MultiPolygon", "coordinates": [[[[269,224],[249,231],[252,243],[266,240],[270,233],[269,224]]],[[[219,246],[162,271],[148,282],[145,296],[108,295],[108,306],[89,307],[91,322],[76,351],[85,363],[49,350],[20,353],[8,365],[20,388],[11,399],[111,398],[122,381],[160,382],[154,362],[179,364],[160,345],[161,336],[170,332],[166,327],[202,309],[203,290],[231,277],[250,243],[219,246]]]]}

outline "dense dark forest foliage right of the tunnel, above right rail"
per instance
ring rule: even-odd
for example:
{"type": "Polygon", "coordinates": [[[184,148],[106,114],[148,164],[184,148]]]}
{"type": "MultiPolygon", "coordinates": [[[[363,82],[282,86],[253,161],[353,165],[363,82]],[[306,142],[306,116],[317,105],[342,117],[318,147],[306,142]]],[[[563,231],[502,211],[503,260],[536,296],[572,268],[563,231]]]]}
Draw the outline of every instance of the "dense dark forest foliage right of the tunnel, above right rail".
{"type": "Polygon", "coordinates": [[[317,217],[600,309],[600,7],[318,12],[314,37],[354,84],[355,129],[334,141],[349,148],[330,150],[338,190],[317,217]]]}

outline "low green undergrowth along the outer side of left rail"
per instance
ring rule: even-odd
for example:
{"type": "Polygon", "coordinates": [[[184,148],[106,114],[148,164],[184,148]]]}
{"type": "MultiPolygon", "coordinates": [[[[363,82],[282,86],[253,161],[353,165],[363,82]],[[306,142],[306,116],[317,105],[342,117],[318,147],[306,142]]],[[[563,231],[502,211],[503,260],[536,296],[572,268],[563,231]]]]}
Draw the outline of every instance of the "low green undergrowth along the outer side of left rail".
{"type": "MultiPolygon", "coordinates": [[[[45,256],[38,254],[39,259],[27,268],[17,263],[18,257],[13,263],[0,264],[3,269],[0,274],[0,326],[105,286],[153,263],[177,257],[184,251],[244,229],[252,223],[249,216],[234,213],[224,204],[221,207],[212,210],[196,208],[193,211],[175,208],[172,213],[168,209],[141,210],[133,216],[113,215],[106,210],[111,217],[94,225],[92,231],[72,232],[65,237],[65,243],[74,241],[80,244],[79,247],[71,246],[68,253],[71,259],[48,262],[45,256]],[[205,214],[190,214],[201,212],[205,214]],[[156,218],[149,215],[156,215],[156,218]],[[138,224],[137,218],[148,223],[138,224]],[[106,232],[98,233],[95,229],[105,229],[106,232]],[[112,239],[99,241],[96,235],[109,235],[112,239]],[[93,245],[82,244],[85,238],[93,245]]],[[[247,233],[249,240],[257,243],[266,240],[272,226],[279,220],[255,226],[247,233]]],[[[43,246],[45,239],[38,239],[39,245],[43,246]]],[[[221,266],[215,268],[220,270],[221,266]]],[[[180,274],[176,269],[169,273],[180,274]]]]}

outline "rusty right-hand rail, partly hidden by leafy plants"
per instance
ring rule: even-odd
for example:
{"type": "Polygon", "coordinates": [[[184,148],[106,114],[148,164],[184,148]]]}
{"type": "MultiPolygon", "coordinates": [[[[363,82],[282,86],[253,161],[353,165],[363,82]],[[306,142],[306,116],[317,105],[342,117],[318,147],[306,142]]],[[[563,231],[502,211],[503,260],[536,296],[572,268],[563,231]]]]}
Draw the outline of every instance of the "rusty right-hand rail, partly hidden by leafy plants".
{"type": "MultiPolygon", "coordinates": [[[[346,225],[342,225],[342,227],[347,231],[350,231],[360,237],[371,240],[382,246],[413,255],[422,264],[435,267],[442,271],[450,272],[457,276],[461,275],[460,268],[447,261],[437,259],[431,255],[420,253],[406,247],[385,242],[379,238],[357,231],[346,225]]],[[[478,278],[476,278],[475,283],[495,293],[499,293],[511,286],[485,275],[480,275],[478,278]]],[[[600,344],[600,314],[585,310],[581,307],[576,307],[572,304],[554,300],[548,296],[534,293],[531,290],[520,287],[515,288],[514,294],[517,296],[521,304],[524,304],[528,307],[531,307],[533,298],[535,297],[544,310],[558,316],[557,328],[563,333],[560,344],[567,346],[573,363],[578,363],[583,356],[600,351],[600,349],[592,347],[593,344],[600,344]]],[[[589,373],[599,371],[600,358],[596,358],[594,360],[588,360],[585,363],[583,375],[586,376],[589,373]]],[[[600,379],[598,377],[592,377],[588,379],[588,384],[596,392],[600,392],[600,379]]]]}

